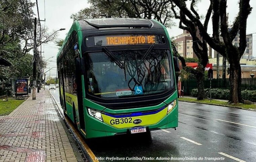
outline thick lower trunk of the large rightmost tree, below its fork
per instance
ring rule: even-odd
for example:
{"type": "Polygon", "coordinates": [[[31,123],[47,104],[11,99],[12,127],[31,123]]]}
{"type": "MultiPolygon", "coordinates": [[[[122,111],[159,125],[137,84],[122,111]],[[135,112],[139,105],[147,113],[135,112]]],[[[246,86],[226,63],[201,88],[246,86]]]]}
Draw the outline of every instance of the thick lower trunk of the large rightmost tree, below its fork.
{"type": "Polygon", "coordinates": [[[241,66],[240,60],[234,58],[229,62],[229,82],[230,82],[230,103],[243,103],[241,94],[241,66]]]}

